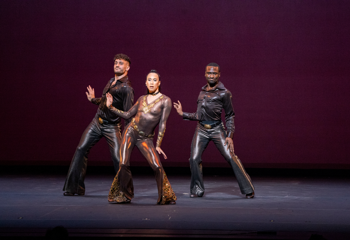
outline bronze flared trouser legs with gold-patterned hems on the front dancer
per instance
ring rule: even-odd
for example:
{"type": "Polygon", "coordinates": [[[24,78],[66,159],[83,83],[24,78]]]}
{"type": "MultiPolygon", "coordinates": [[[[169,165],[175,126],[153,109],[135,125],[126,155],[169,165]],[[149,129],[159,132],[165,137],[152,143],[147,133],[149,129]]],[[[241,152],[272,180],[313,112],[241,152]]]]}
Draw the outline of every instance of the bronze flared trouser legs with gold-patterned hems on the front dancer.
{"type": "Polygon", "coordinates": [[[108,195],[109,202],[130,202],[134,197],[134,186],[130,171],[130,154],[135,145],[154,171],[158,187],[157,204],[167,204],[170,201],[175,201],[176,196],[160,163],[153,140],[146,136],[140,136],[133,126],[129,124],[123,132],[120,146],[120,166],[108,195]]]}

